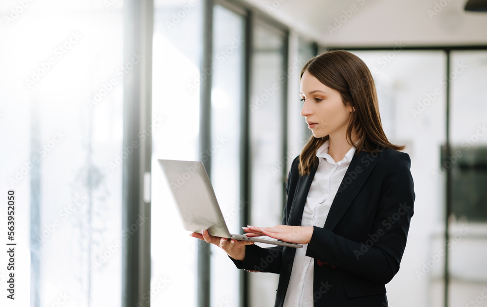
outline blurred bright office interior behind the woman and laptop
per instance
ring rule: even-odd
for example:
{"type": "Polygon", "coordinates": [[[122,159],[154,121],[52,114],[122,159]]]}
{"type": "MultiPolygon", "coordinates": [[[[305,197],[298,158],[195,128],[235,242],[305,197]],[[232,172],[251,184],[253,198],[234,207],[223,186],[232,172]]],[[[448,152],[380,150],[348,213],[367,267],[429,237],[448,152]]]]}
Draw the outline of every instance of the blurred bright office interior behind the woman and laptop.
{"type": "Polygon", "coordinates": [[[14,191],[4,242],[17,245],[16,299],[2,290],[0,305],[274,306],[278,275],[239,271],[183,230],[157,159],[203,161],[231,233],[279,224],[310,136],[300,70],[344,49],[412,160],[389,306],[487,306],[487,7],[474,2],[2,0],[0,221],[14,191]]]}

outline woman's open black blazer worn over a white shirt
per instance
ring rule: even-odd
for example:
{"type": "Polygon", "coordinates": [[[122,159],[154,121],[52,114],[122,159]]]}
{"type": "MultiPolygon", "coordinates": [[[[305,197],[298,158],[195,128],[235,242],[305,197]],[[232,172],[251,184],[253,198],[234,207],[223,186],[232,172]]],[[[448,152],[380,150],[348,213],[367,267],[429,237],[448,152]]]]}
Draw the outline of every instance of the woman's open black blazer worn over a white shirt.
{"type": "MultiPolygon", "coordinates": [[[[381,148],[355,153],[323,227],[314,227],[306,256],[314,258],[309,306],[387,307],[387,284],[399,270],[415,199],[405,152],[381,148]]],[[[299,156],[289,171],[283,225],[301,225],[304,204],[318,166],[301,177],[299,156]]],[[[275,307],[288,290],[295,248],[245,247],[237,268],[278,273],[275,307]]],[[[289,289],[293,290],[293,289],[289,289]]]]}

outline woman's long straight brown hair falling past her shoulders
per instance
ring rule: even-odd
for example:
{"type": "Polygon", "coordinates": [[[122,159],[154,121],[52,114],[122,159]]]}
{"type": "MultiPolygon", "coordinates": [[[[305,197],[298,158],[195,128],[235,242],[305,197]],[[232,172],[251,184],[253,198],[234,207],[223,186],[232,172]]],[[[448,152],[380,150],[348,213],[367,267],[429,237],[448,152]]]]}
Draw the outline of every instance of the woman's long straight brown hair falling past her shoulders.
{"type": "MultiPolygon", "coordinates": [[[[355,107],[347,127],[347,142],[355,146],[352,143],[352,131],[355,129],[356,154],[361,150],[373,153],[386,147],[395,150],[406,147],[391,144],[387,140],[380,121],[374,79],[367,65],[358,56],[344,50],[319,54],[304,64],[300,80],[306,71],[327,87],[339,91],[345,106],[355,107]]],[[[311,167],[318,165],[316,150],[328,138],[328,135],[322,138],[311,135],[300,154],[301,176],[309,174],[311,167]]]]}

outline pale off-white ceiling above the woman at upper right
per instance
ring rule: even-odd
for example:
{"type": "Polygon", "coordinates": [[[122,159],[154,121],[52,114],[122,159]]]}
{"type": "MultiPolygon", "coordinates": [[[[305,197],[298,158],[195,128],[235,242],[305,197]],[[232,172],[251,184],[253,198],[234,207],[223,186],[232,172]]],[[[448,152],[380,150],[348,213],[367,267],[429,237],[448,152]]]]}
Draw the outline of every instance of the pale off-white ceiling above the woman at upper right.
{"type": "Polygon", "coordinates": [[[485,45],[487,13],[466,1],[244,0],[325,46],[485,45]]]}

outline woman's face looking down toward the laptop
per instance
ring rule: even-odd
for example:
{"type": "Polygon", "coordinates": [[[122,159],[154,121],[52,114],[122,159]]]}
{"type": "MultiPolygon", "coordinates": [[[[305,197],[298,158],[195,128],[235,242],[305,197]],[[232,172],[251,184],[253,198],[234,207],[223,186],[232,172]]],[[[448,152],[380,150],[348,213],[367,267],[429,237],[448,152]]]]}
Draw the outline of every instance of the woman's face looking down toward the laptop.
{"type": "Polygon", "coordinates": [[[313,136],[343,137],[350,121],[351,106],[345,106],[340,92],[331,89],[305,71],[301,77],[300,95],[304,99],[301,116],[313,136]]]}

